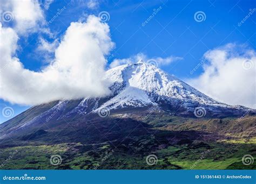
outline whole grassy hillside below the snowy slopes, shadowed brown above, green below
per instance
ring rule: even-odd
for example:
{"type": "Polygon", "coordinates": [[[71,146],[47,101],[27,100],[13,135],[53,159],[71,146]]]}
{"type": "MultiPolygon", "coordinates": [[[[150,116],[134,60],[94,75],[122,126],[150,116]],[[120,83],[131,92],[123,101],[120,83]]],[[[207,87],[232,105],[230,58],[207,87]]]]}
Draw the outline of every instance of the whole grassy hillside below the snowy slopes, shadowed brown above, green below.
{"type": "Polygon", "coordinates": [[[0,163],[8,160],[4,169],[256,169],[255,161],[242,164],[246,154],[255,159],[255,116],[142,117],[112,114],[43,124],[2,140],[0,163]],[[50,162],[55,154],[62,158],[56,166],[50,162]],[[150,154],[157,157],[154,165],[146,162],[150,154]]]}

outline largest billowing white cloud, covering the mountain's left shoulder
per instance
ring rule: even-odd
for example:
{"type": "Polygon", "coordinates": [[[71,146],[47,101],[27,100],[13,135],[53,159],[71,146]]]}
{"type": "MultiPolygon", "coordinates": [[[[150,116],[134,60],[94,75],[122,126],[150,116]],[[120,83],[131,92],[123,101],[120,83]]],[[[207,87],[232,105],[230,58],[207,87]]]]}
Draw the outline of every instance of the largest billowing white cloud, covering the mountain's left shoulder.
{"type": "Polygon", "coordinates": [[[18,104],[109,94],[103,80],[106,60],[114,44],[109,26],[95,16],[73,22],[55,51],[55,59],[41,72],[25,69],[14,56],[18,34],[0,24],[0,98],[18,104]]]}

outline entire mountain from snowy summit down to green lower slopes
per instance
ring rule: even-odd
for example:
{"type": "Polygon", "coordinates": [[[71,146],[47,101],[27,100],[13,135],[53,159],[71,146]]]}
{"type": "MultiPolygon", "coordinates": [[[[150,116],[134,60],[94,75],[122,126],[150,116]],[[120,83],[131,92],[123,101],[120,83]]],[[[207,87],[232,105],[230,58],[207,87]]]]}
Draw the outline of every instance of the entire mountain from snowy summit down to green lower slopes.
{"type": "Polygon", "coordinates": [[[109,96],[36,105],[0,124],[0,151],[18,150],[5,168],[189,169],[194,153],[207,151],[196,168],[248,169],[240,157],[256,153],[256,110],[215,101],[143,61],[109,69],[106,79],[109,96]],[[56,153],[57,167],[48,161],[56,153]],[[146,164],[152,153],[158,165],[146,164]]]}

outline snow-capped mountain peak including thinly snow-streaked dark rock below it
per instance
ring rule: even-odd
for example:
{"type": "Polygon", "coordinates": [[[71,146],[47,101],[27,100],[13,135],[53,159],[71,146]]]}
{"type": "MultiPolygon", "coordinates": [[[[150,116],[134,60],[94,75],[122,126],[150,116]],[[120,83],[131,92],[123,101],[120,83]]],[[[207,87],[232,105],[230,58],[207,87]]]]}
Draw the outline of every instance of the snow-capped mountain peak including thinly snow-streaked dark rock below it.
{"type": "Polygon", "coordinates": [[[204,107],[211,116],[238,116],[249,109],[217,102],[177,77],[142,60],[111,68],[106,71],[105,77],[110,83],[111,95],[81,99],[74,108],[60,117],[143,107],[156,107],[188,116],[193,115],[195,108],[204,107]]]}

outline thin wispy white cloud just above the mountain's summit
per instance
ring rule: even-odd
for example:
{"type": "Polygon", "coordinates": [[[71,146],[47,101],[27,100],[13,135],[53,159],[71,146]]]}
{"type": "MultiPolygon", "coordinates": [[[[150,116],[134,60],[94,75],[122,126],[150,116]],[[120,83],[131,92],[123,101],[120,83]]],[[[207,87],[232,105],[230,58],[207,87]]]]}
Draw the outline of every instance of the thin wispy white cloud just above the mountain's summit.
{"type": "Polygon", "coordinates": [[[113,68],[113,67],[116,67],[119,65],[125,65],[125,64],[138,62],[139,60],[143,60],[144,62],[155,62],[155,65],[163,66],[163,65],[169,65],[171,62],[181,60],[181,59],[183,59],[183,58],[180,58],[177,56],[169,56],[167,58],[161,58],[161,57],[149,58],[147,55],[145,55],[143,53],[138,53],[136,55],[131,56],[130,58],[114,59],[110,63],[110,68],[113,68]]]}

